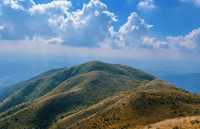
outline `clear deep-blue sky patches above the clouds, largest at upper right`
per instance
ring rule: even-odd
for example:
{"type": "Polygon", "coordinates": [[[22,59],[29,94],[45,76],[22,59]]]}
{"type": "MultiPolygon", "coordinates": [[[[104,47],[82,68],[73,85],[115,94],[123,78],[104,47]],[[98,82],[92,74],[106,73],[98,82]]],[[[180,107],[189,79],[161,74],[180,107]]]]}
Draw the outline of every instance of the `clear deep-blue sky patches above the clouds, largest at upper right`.
{"type": "MultiPolygon", "coordinates": [[[[47,3],[51,0],[35,0],[37,3],[47,3]]],[[[102,0],[106,3],[109,10],[114,12],[119,22],[116,24],[119,27],[125,23],[131,12],[136,11],[150,24],[155,24],[154,33],[160,36],[176,36],[184,35],[191,30],[200,26],[200,7],[193,3],[181,2],[179,0],[155,0],[158,7],[154,11],[138,11],[137,4],[140,0],[102,0]]],[[[192,1],[192,0],[191,0],[192,1]]],[[[76,0],[72,2],[75,9],[81,8],[83,3],[88,0],[76,0]]]]}

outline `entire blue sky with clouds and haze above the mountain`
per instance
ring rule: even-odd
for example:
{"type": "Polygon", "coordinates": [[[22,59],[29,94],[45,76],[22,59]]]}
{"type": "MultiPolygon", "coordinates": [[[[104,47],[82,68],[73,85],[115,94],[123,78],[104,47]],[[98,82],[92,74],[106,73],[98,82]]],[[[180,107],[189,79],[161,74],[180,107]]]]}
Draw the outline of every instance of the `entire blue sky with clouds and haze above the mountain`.
{"type": "Polygon", "coordinates": [[[199,15],[200,0],[1,0],[0,82],[88,60],[200,72],[199,15]]]}

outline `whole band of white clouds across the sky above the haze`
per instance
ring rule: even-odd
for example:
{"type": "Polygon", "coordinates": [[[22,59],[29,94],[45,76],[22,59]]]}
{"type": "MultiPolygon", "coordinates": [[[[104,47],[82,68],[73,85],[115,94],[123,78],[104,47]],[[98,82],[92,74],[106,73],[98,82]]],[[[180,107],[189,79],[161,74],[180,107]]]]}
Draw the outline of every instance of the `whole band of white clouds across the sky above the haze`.
{"type": "MultiPolygon", "coordinates": [[[[181,0],[186,2],[187,0],[181,0]]],[[[198,4],[198,0],[193,0],[198,4]]],[[[157,8],[154,0],[141,0],[139,10],[157,8]]],[[[63,46],[117,49],[165,49],[200,51],[200,29],[183,36],[152,36],[155,25],[148,24],[137,12],[116,29],[117,16],[100,0],[90,0],[80,9],[73,9],[69,0],[36,4],[33,0],[0,2],[0,40],[63,46]]]]}

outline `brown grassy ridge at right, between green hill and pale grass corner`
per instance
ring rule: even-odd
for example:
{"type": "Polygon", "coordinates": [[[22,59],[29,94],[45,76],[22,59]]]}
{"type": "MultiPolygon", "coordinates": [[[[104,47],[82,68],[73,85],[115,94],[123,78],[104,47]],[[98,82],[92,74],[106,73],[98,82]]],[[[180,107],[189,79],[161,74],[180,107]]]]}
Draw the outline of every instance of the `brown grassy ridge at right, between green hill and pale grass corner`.
{"type": "Polygon", "coordinates": [[[55,122],[51,129],[142,129],[170,118],[200,114],[200,96],[152,81],[55,122]]]}

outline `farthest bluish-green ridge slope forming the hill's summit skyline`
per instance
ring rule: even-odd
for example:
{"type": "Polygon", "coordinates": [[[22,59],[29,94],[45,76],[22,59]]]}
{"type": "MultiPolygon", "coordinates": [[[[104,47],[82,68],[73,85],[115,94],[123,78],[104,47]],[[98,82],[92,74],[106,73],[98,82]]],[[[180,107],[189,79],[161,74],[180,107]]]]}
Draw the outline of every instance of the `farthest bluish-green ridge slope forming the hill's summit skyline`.
{"type": "Polygon", "coordinates": [[[0,112],[6,111],[18,104],[39,98],[52,91],[65,80],[91,71],[102,71],[115,76],[125,76],[131,80],[138,81],[154,79],[153,76],[138,69],[97,61],[88,62],[69,69],[55,69],[12,86],[14,87],[13,89],[9,89],[4,93],[4,95],[1,95],[2,98],[0,100],[2,100],[2,102],[0,103],[0,112]]]}

